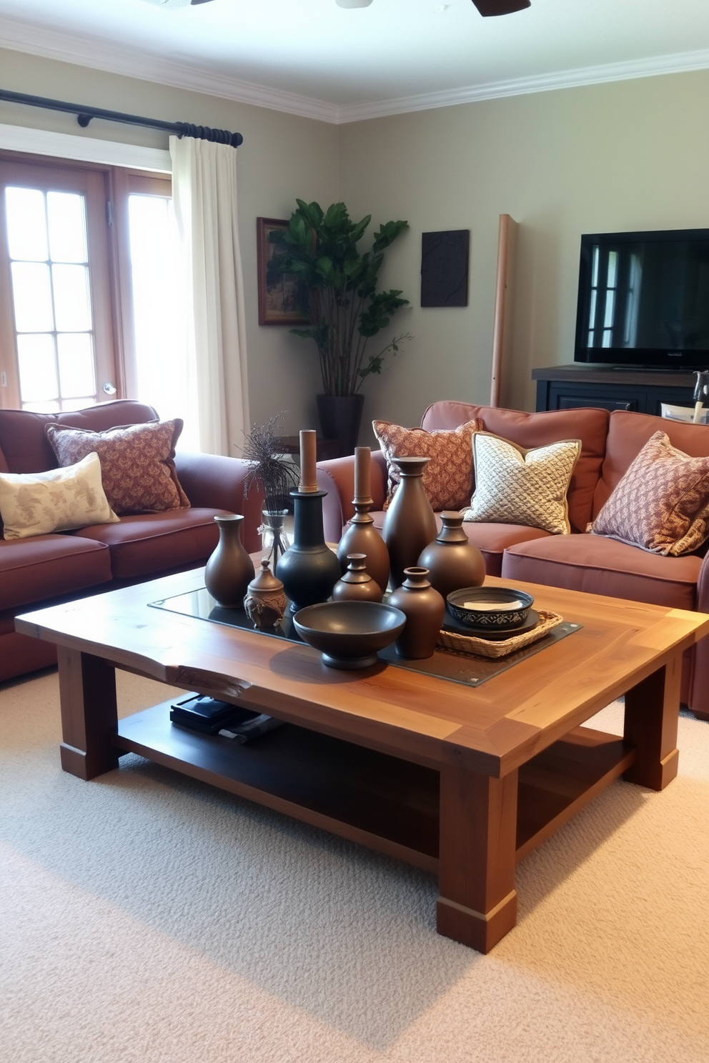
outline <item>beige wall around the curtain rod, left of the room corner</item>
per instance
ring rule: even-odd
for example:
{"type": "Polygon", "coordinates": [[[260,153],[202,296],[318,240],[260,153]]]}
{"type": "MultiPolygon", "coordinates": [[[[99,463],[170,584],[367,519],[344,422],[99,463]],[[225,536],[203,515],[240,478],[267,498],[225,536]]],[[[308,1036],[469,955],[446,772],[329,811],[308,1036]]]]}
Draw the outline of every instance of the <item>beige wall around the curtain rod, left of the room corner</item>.
{"type": "MultiPolygon", "coordinates": [[[[198,92],[101,73],[83,67],[0,50],[3,88],[34,96],[238,130],[239,231],[247,303],[251,419],[263,422],[286,411],[284,427],[316,425],[319,390],[315,359],[287,328],[259,327],[256,298],[256,218],[289,217],[296,196],[332,202],[338,197],[338,130],[324,122],[233,103],[198,92]]],[[[81,134],[71,115],[0,101],[0,122],[81,134]]],[[[92,121],[86,136],[167,148],[167,134],[92,121]]]]}

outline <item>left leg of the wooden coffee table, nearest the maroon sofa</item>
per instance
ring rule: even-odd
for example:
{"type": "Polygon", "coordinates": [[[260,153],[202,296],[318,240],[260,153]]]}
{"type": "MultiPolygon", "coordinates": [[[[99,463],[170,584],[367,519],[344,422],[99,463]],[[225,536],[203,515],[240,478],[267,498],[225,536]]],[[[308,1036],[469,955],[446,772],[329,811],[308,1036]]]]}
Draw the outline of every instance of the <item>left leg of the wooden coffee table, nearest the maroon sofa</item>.
{"type": "Polygon", "coordinates": [[[62,703],[62,767],[80,779],[118,767],[112,735],[118,729],[113,664],[57,647],[62,703]]]}

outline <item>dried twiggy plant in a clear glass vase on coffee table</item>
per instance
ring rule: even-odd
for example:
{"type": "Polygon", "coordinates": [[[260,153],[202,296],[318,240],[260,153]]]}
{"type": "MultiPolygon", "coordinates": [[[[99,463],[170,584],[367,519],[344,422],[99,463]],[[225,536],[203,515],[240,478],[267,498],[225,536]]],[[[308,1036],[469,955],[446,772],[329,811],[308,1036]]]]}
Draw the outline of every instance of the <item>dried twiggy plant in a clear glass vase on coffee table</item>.
{"type": "Polygon", "coordinates": [[[291,461],[278,451],[277,429],[281,415],[272,417],[266,424],[254,425],[244,433],[242,457],[250,462],[243,480],[243,493],[248,496],[252,487],[258,486],[264,493],[261,511],[261,546],[266,557],[271,559],[275,572],[276,561],[290,546],[284,530],[288,514],[289,492],[298,484],[298,473],[291,461]]]}

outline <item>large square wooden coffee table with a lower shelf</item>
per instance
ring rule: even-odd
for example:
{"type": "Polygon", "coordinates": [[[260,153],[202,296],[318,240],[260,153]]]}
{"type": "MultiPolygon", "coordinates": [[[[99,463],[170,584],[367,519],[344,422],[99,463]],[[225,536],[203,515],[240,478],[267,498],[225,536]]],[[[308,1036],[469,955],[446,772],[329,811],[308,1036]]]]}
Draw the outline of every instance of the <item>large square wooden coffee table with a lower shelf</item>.
{"type": "MultiPolygon", "coordinates": [[[[502,581],[489,578],[492,586],[502,581]]],[[[149,606],[202,570],[17,619],[58,647],[62,765],[124,753],[438,874],[438,931],[487,952],[514,926],[514,864],[613,779],[677,773],[681,655],[709,615],[519,584],[583,629],[472,689],[149,606]],[[169,702],[118,721],[115,669],[269,712],[253,745],[173,726],[169,702]],[[625,733],[579,727],[625,694],[625,733]]]]}

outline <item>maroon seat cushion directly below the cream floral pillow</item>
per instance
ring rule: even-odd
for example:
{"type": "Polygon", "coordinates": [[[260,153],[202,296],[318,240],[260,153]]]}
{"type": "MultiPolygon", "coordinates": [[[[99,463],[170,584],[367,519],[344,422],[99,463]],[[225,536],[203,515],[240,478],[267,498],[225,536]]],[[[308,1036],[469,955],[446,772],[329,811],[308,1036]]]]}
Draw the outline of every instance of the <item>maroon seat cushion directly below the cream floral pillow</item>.
{"type": "Polygon", "coordinates": [[[2,609],[29,608],[46,598],[108,583],[111,575],[111,554],[96,540],[73,535],[0,539],[2,609]]]}

